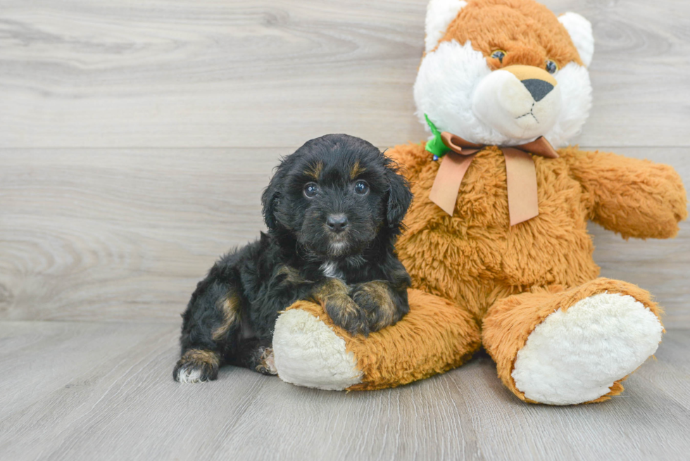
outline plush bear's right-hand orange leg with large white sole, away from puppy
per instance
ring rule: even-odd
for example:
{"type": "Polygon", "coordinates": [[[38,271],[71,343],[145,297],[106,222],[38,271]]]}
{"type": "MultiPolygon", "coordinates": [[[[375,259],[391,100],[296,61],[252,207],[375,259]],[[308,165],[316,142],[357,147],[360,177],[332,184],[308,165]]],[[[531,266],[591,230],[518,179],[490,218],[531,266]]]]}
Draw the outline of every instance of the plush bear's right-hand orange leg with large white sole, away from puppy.
{"type": "Polygon", "coordinates": [[[663,333],[647,291],[596,279],[572,289],[533,289],[496,301],[484,347],[522,400],[571,405],[608,400],[652,355],[663,333]]]}

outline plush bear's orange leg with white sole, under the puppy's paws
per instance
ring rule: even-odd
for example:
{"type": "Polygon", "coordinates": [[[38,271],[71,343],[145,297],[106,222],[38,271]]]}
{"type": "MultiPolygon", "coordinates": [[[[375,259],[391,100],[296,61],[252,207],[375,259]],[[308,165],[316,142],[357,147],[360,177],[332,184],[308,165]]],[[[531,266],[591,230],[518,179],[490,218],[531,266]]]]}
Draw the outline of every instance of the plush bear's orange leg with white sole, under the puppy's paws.
{"type": "Polygon", "coordinates": [[[298,301],[275,323],[278,376],[319,389],[382,389],[458,367],[479,349],[479,326],[466,310],[418,290],[408,298],[402,320],[368,337],[351,336],[322,306],[298,301]]]}

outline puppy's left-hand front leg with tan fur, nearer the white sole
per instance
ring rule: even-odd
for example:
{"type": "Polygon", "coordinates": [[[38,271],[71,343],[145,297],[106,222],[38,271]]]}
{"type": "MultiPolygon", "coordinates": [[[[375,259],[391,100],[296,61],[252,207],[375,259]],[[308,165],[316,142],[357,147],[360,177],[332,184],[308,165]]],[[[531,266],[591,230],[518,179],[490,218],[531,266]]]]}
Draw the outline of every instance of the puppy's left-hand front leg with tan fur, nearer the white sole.
{"type": "Polygon", "coordinates": [[[324,306],[334,324],[349,334],[369,334],[367,312],[349,296],[349,288],[339,279],[326,279],[312,293],[316,302],[324,306]]]}

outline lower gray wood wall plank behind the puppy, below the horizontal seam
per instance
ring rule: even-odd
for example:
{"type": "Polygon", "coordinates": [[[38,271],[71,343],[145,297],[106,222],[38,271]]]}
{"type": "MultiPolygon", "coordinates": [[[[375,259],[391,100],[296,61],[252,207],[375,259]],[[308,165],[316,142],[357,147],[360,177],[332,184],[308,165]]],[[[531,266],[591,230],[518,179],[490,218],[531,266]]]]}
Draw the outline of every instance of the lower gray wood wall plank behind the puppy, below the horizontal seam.
{"type": "MultiPolygon", "coordinates": [[[[0,319],[171,320],[218,255],[263,229],[284,149],[0,149],[0,319]]],[[[614,150],[614,149],[612,149],[614,150]]],[[[670,163],[685,148],[615,149],[670,163]]],[[[690,326],[690,227],[623,241],[591,226],[606,277],[652,291],[690,326]]]]}

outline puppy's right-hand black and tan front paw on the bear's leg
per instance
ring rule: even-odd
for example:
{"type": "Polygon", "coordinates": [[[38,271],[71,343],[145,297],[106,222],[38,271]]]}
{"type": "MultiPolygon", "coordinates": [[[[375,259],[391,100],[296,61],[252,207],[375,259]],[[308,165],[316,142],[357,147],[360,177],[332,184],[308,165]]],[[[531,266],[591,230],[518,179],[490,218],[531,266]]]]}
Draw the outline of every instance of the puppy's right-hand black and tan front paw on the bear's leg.
{"type": "Polygon", "coordinates": [[[367,313],[370,331],[378,331],[400,320],[389,286],[385,282],[366,282],[352,289],[352,299],[367,313]]]}

